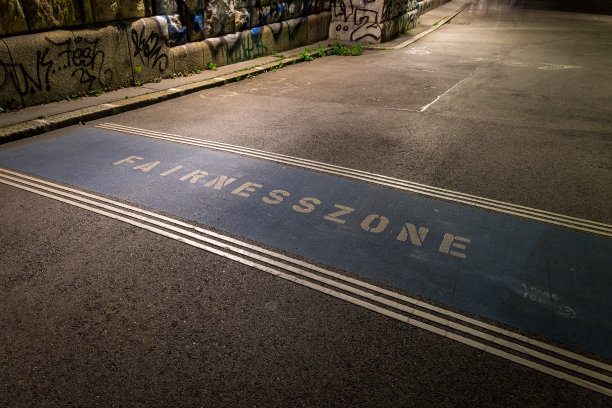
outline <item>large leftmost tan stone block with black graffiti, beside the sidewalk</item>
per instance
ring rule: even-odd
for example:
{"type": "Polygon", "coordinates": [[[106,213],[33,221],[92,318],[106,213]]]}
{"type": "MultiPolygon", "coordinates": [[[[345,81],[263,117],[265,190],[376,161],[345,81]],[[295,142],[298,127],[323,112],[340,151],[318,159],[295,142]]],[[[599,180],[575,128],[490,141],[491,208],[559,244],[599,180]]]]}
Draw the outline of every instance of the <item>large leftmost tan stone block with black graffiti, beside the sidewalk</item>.
{"type": "Polygon", "coordinates": [[[49,102],[131,82],[125,28],[54,30],[0,41],[0,106],[49,102]]]}

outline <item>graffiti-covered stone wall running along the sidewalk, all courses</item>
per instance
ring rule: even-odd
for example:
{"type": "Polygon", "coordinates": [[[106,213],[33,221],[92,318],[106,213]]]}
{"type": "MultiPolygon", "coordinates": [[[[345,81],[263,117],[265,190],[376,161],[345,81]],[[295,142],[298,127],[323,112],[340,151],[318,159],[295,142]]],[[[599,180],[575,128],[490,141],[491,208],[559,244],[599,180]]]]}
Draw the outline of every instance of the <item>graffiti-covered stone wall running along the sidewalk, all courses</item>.
{"type": "Polygon", "coordinates": [[[328,36],[380,42],[437,2],[0,0],[0,107],[150,82],[328,36]]]}

